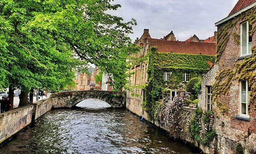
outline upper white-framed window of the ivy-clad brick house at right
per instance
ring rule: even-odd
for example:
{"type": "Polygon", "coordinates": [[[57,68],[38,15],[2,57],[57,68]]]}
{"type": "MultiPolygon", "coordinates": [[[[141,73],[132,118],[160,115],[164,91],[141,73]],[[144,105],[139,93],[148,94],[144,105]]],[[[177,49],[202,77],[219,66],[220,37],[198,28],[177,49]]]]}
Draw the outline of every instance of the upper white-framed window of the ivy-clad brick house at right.
{"type": "Polygon", "coordinates": [[[250,36],[251,30],[252,25],[249,24],[249,21],[241,24],[241,56],[252,54],[252,36],[250,36]]]}

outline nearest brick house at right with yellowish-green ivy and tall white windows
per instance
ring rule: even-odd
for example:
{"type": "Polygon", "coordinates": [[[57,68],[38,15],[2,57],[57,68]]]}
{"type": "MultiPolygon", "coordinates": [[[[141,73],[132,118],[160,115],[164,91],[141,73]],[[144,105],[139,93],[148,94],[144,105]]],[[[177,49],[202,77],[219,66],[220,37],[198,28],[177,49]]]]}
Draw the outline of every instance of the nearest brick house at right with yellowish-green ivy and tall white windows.
{"type": "Polygon", "coordinates": [[[238,0],[218,27],[217,62],[202,78],[199,106],[216,115],[218,153],[234,153],[240,142],[245,154],[256,153],[255,80],[256,0],[238,0]],[[252,66],[252,67],[251,67],[252,66]],[[251,92],[250,92],[251,91],[251,92]]]}

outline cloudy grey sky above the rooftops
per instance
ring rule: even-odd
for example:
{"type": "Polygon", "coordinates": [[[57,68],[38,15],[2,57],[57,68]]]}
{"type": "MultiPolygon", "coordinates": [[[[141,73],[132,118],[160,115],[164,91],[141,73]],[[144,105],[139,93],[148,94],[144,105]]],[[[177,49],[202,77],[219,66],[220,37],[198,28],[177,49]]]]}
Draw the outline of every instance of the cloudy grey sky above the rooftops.
{"type": "Polygon", "coordinates": [[[199,39],[213,36],[216,22],[228,16],[238,0],[114,0],[122,8],[111,14],[130,21],[134,26],[130,37],[140,38],[149,29],[152,38],[163,38],[171,31],[184,41],[196,34],[199,39]]]}

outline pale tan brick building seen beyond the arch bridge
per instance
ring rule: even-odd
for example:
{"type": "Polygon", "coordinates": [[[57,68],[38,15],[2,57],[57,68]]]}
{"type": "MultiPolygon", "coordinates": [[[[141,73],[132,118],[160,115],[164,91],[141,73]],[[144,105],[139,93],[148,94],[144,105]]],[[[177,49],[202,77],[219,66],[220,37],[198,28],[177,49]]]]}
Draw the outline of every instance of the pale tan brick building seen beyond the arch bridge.
{"type": "Polygon", "coordinates": [[[99,72],[97,67],[90,66],[88,73],[76,73],[76,90],[90,90],[91,87],[101,90],[100,85],[95,81],[95,75],[98,75],[99,72]]]}

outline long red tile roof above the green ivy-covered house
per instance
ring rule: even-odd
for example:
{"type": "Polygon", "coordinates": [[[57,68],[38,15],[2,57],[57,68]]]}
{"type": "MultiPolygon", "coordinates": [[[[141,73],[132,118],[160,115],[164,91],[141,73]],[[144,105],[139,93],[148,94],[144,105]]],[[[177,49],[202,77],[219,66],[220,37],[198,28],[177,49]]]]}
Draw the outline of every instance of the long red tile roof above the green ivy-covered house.
{"type": "Polygon", "coordinates": [[[216,55],[215,43],[166,41],[162,39],[149,39],[148,42],[149,47],[158,47],[158,52],[216,55]]]}

